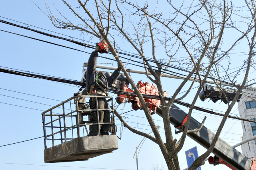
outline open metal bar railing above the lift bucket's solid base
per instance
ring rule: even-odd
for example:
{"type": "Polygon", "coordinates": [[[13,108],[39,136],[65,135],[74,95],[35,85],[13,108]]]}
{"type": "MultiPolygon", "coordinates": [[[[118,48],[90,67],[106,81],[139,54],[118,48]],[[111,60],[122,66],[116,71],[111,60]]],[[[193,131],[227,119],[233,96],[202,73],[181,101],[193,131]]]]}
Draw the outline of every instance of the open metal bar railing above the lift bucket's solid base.
{"type": "MultiPolygon", "coordinates": [[[[98,98],[105,98],[106,102],[108,103],[108,108],[114,108],[113,107],[113,98],[112,97],[108,97],[108,96],[74,96],[71,97],[70,99],[48,109],[47,111],[44,111],[42,113],[42,122],[43,122],[43,129],[44,129],[44,148],[46,149],[46,140],[52,140],[52,146],[54,146],[54,140],[60,140],[61,143],[66,142],[67,140],[72,140],[74,138],[74,129],[76,129],[76,134],[77,137],[80,137],[80,127],[85,128],[86,132],[88,134],[88,130],[86,128],[86,126],[90,126],[90,125],[98,125],[98,135],[100,136],[100,125],[110,125],[111,127],[111,133],[112,134],[116,134],[116,126],[115,126],[115,119],[114,119],[114,110],[113,109],[98,109],[98,98]],[[88,109],[88,107],[84,107],[85,109],[80,109],[81,108],[81,104],[84,105],[84,103],[86,102],[86,98],[95,98],[96,100],[96,109],[88,109]],[[72,111],[72,107],[71,107],[71,100],[74,99],[74,104],[76,105],[76,109],[74,111],[72,111]],[[81,103],[82,101],[82,103],[81,103]],[[64,108],[64,104],[66,103],[70,103],[70,111],[69,113],[65,113],[65,109],[64,108]],[[80,105],[80,107],[79,107],[80,105]],[[62,106],[62,114],[59,113],[54,113],[53,110],[56,108],[59,108],[60,106],[62,106]],[[109,110],[110,111],[110,117],[111,117],[111,122],[110,123],[100,123],[99,122],[99,111],[105,111],[105,110],[109,110]],[[83,118],[84,115],[89,115],[91,111],[96,111],[97,112],[97,118],[98,118],[98,123],[89,123],[90,121],[83,121],[83,123],[81,123],[81,117],[83,118]],[[49,114],[50,112],[50,114],[49,114]],[[84,114],[87,113],[87,114],[84,114]],[[89,114],[88,114],[89,113],[89,114]],[[48,119],[48,117],[50,117],[50,121],[48,121],[46,123],[46,119],[48,119]],[[57,119],[54,119],[55,117],[57,117],[57,119]],[[71,118],[71,121],[70,121],[71,118]],[[73,118],[75,118],[75,125],[73,125],[73,118]],[[71,123],[70,123],[71,122],[71,123]],[[86,122],[86,123],[84,123],[86,122]],[[57,124],[57,125],[54,125],[57,124]],[[48,125],[48,126],[47,126],[48,125]],[[62,126],[63,125],[63,126],[62,126]],[[50,128],[50,134],[47,132],[47,128],[50,128]],[[57,132],[55,129],[59,129],[57,132]],[[67,134],[67,131],[72,129],[72,137],[70,134],[67,134]],[[64,132],[64,138],[62,136],[62,132],[64,132]],[[59,138],[54,138],[56,137],[57,134],[60,134],[59,138]],[[55,136],[54,136],[55,135],[55,136]],[[70,138],[68,138],[67,136],[70,136],[70,138]],[[51,138],[49,138],[51,137],[51,138]]],[[[89,100],[88,100],[89,101],[89,100]]],[[[83,120],[83,119],[82,119],[83,120]]],[[[76,136],[76,135],[75,135],[76,136]]]]}

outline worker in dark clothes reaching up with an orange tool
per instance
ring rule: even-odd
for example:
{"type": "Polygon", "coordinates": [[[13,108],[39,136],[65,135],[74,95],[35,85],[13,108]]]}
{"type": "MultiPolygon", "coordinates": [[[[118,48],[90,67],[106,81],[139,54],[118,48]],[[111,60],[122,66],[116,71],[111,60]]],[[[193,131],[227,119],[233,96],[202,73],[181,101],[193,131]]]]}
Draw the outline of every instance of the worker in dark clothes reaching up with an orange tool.
{"type": "MultiPolygon", "coordinates": [[[[112,73],[110,77],[106,77],[104,74],[96,70],[96,64],[98,59],[98,51],[100,47],[97,46],[95,51],[90,55],[87,70],[84,71],[84,77],[86,79],[86,86],[88,95],[107,96],[108,87],[111,86],[117,78],[120,76],[121,68],[118,68],[112,73]]],[[[90,109],[96,109],[96,99],[90,98],[90,109]]],[[[108,109],[108,103],[106,98],[98,98],[98,109],[108,109]]],[[[110,123],[109,110],[98,111],[100,123],[110,123]]],[[[98,123],[97,112],[92,111],[90,114],[90,123],[98,123]]],[[[108,135],[110,125],[100,125],[100,135],[108,135]]],[[[98,134],[98,125],[90,125],[90,132],[88,136],[96,136],[98,134]]]]}

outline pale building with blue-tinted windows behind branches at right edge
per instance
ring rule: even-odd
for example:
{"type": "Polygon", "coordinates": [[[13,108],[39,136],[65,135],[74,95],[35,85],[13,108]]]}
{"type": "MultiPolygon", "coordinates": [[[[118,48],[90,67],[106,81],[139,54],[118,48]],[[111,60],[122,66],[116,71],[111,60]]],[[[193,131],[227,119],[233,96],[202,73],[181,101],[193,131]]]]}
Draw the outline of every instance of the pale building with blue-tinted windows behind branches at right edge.
{"type": "MultiPolygon", "coordinates": [[[[238,111],[241,118],[252,119],[256,121],[256,92],[244,90],[242,97],[238,102],[238,111]]],[[[242,141],[256,135],[256,124],[241,121],[243,128],[242,141]]],[[[256,157],[256,139],[241,145],[242,153],[248,158],[256,157]]]]}

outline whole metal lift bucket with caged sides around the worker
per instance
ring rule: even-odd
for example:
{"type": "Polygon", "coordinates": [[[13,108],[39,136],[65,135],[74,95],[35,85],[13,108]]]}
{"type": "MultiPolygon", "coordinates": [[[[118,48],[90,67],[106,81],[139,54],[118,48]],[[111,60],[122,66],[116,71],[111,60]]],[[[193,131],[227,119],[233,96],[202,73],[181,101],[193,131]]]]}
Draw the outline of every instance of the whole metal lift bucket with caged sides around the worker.
{"type": "MultiPolygon", "coordinates": [[[[44,129],[44,162],[72,162],[88,160],[106,153],[112,153],[118,149],[118,141],[116,136],[116,126],[114,121],[114,110],[90,109],[86,104],[86,99],[92,96],[74,96],[70,99],[44,111],[42,113],[43,129],[44,129]],[[71,100],[74,99],[76,109],[72,111],[71,100]],[[65,109],[64,104],[70,105],[70,109],[65,109]],[[58,113],[62,107],[62,113],[58,113]],[[83,116],[90,115],[91,111],[109,110],[111,116],[110,123],[90,123],[84,121],[83,116]],[[54,111],[54,112],[53,112],[54,111]],[[55,113],[57,112],[57,113],[55,113]],[[67,113],[65,113],[67,112],[67,113]],[[88,134],[86,126],[90,125],[106,125],[110,124],[111,135],[100,136],[100,128],[98,136],[81,136],[84,128],[88,134]],[[47,147],[50,145],[50,147],[47,147]]],[[[98,98],[106,98],[108,108],[113,108],[112,97],[93,96],[96,101],[98,98]]],[[[99,119],[98,119],[99,120],[99,119]]]]}

